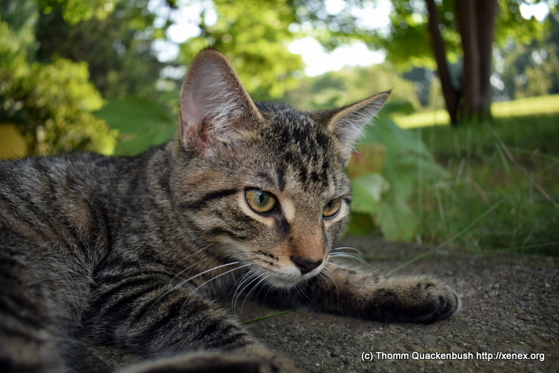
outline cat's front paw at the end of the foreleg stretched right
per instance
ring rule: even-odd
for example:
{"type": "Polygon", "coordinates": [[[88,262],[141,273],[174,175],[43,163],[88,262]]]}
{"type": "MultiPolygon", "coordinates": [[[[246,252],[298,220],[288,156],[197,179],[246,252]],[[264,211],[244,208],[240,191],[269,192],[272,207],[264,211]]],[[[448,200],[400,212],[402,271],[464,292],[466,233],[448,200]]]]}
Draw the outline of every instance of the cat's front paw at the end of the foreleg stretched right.
{"type": "Polygon", "coordinates": [[[458,295],[437,279],[386,279],[372,291],[368,316],[382,321],[432,323],[446,319],[458,308],[458,295]]]}

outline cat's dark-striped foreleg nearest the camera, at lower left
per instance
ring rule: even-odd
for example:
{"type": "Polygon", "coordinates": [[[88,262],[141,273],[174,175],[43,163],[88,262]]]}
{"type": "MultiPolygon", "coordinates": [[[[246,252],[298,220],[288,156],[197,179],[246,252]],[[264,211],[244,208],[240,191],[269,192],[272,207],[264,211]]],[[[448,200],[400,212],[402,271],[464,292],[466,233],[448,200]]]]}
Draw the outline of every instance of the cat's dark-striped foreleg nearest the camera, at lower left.
{"type": "Polygon", "coordinates": [[[171,280],[147,270],[99,275],[84,335],[144,361],[126,372],[296,371],[224,309],[171,280]]]}

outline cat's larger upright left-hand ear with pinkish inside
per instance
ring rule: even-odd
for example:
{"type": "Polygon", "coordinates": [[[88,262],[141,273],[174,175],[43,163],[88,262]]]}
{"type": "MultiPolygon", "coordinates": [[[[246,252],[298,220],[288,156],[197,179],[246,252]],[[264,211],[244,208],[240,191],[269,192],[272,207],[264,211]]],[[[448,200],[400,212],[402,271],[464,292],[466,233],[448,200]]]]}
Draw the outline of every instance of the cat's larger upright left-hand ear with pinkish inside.
{"type": "Polygon", "coordinates": [[[235,69],[217,50],[200,52],[182,85],[180,140],[203,153],[218,142],[234,142],[242,129],[261,122],[235,69]]]}

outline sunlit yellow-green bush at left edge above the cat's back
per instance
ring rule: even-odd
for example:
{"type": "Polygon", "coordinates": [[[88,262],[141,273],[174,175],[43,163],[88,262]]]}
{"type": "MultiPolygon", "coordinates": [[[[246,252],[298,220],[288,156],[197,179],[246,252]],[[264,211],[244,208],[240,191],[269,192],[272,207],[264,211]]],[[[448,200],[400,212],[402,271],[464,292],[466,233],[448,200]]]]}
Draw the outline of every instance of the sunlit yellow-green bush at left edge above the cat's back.
{"type": "Polygon", "coordinates": [[[17,124],[33,155],[69,149],[110,154],[115,133],[91,114],[103,105],[87,64],[29,64],[17,34],[0,22],[0,123],[17,124]]]}

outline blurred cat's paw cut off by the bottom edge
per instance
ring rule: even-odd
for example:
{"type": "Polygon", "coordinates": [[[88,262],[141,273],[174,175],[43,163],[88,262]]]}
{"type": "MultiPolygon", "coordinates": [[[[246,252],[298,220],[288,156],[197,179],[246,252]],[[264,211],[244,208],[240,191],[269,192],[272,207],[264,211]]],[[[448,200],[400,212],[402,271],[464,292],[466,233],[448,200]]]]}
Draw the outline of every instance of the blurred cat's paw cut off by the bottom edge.
{"type": "Polygon", "coordinates": [[[230,356],[221,353],[189,353],[174,358],[148,360],[125,367],[117,373],[293,373],[290,360],[270,351],[272,356],[230,356]]]}

